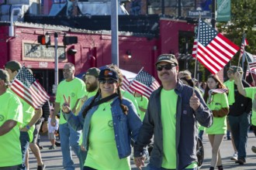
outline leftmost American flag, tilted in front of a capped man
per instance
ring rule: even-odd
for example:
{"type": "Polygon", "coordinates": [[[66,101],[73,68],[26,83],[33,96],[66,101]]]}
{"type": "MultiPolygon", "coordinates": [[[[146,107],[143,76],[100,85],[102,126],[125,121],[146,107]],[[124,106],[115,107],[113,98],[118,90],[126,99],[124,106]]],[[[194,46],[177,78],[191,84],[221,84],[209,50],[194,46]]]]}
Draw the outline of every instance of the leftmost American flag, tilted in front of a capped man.
{"type": "Polygon", "coordinates": [[[50,98],[25,66],[22,66],[22,69],[19,70],[19,73],[12,81],[11,89],[35,109],[42,107],[50,98]]]}

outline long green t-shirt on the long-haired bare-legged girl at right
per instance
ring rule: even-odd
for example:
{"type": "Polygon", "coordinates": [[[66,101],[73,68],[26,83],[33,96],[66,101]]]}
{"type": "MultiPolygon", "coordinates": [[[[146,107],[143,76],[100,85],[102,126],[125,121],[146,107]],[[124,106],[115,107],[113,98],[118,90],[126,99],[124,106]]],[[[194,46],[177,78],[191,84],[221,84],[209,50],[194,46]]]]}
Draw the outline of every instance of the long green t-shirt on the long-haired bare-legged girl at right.
{"type": "MultiPolygon", "coordinates": [[[[208,99],[207,99],[208,100],[208,99]]],[[[228,108],[227,93],[213,94],[213,101],[207,104],[210,110],[220,110],[221,108],[228,108]]],[[[213,125],[206,128],[206,134],[226,134],[227,132],[227,116],[213,117],[213,125]]]]}

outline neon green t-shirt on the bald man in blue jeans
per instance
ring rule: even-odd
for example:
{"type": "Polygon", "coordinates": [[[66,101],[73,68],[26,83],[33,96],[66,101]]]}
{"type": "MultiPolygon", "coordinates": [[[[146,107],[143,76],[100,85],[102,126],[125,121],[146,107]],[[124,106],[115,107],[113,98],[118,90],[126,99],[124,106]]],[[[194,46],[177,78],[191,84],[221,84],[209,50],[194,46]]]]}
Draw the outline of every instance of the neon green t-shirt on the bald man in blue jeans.
{"type": "MultiPolygon", "coordinates": [[[[85,96],[85,82],[74,77],[74,80],[67,82],[66,80],[61,81],[57,87],[56,100],[55,102],[64,104],[64,97],[71,98],[71,109],[74,108],[77,100],[85,96]]],[[[59,124],[65,124],[67,121],[64,119],[63,114],[61,113],[61,118],[59,124]]]]}

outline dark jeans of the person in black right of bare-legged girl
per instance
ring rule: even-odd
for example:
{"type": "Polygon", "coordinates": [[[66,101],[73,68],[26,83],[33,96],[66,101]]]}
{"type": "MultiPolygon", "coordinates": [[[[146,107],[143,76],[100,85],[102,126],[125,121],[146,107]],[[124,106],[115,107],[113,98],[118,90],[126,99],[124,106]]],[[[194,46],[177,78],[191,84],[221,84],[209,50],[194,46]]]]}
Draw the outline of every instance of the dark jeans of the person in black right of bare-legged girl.
{"type": "Polygon", "coordinates": [[[246,147],[248,139],[248,129],[250,126],[250,114],[241,114],[240,116],[228,116],[230,130],[233,135],[234,144],[238,151],[238,159],[246,158],[246,147]]]}

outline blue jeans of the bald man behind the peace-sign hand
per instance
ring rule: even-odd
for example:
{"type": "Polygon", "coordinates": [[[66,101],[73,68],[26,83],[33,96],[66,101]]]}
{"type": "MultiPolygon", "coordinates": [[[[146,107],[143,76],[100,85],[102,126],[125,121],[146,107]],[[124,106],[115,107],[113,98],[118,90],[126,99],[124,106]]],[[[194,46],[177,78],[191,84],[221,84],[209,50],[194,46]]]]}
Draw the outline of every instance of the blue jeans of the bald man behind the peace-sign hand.
{"type": "Polygon", "coordinates": [[[74,151],[74,154],[78,156],[79,162],[81,162],[81,156],[79,154],[80,146],[78,145],[81,131],[74,131],[67,123],[60,124],[59,127],[63,167],[65,170],[74,170],[71,149],[74,151]]]}

